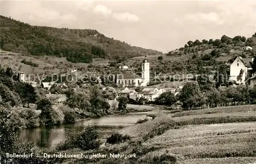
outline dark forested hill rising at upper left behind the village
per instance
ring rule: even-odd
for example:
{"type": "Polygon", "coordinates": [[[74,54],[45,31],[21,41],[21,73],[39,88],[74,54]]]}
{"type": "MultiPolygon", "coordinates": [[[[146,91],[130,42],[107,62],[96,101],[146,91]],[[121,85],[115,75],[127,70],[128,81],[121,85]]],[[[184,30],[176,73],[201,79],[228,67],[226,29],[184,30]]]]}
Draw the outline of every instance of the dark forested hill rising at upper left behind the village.
{"type": "Polygon", "coordinates": [[[31,26],[0,15],[0,48],[30,55],[67,57],[90,63],[93,58],[123,59],[162,52],[131,46],[96,30],[31,26]]]}

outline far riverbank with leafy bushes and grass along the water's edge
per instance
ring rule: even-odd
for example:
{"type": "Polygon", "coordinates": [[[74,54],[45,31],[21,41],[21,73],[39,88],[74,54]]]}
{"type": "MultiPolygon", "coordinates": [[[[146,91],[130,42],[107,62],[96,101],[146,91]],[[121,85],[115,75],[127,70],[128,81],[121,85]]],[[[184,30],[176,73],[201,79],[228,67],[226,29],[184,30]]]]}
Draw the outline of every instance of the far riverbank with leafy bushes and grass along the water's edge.
{"type": "MultiPolygon", "coordinates": [[[[42,125],[40,114],[41,110],[36,110],[35,105],[31,104],[30,108],[17,106],[8,109],[15,113],[11,118],[12,122],[14,122],[20,128],[37,128],[37,127],[49,127],[55,125],[69,125],[76,122],[76,120],[81,119],[98,119],[102,116],[106,115],[114,115],[114,114],[126,114],[126,113],[137,113],[137,112],[148,112],[154,110],[161,110],[157,107],[146,106],[146,105],[131,105],[128,104],[126,110],[112,110],[109,109],[105,115],[96,115],[90,112],[81,113],[79,110],[71,109],[68,106],[58,103],[52,106],[52,110],[48,115],[48,120],[51,124],[47,126],[42,125]]],[[[44,117],[46,119],[46,117],[44,117]]]]}

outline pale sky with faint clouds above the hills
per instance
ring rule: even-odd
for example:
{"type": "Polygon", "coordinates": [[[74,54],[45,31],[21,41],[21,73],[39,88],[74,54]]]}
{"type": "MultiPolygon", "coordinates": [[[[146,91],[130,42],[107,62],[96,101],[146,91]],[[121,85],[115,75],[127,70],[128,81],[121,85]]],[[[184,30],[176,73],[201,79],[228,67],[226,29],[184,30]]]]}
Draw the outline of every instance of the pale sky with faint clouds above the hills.
{"type": "Polygon", "coordinates": [[[107,37],[163,53],[189,40],[256,32],[256,0],[246,1],[9,1],[0,14],[30,25],[95,29],[107,37]]]}

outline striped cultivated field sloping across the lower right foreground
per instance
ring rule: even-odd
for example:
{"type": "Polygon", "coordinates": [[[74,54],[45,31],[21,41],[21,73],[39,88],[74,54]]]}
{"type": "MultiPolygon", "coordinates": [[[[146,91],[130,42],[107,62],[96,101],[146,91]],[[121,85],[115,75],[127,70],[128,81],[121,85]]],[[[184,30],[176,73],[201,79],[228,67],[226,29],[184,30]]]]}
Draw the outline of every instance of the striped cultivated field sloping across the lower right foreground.
{"type": "Polygon", "coordinates": [[[255,109],[255,105],[245,105],[158,115],[153,121],[120,132],[137,138],[154,134],[142,143],[154,151],[141,158],[168,154],[175,156],[178,164],[254,163],[255,109]]]}

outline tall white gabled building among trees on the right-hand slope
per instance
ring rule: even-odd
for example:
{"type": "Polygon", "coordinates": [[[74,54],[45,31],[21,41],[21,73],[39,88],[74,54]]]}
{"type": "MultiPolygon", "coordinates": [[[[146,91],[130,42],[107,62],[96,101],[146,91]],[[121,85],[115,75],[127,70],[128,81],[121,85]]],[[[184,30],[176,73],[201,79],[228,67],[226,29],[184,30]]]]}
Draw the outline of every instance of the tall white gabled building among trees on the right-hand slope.
{"type": "Polygon", "coordinates": [[[245,84],[248,70],[251,69],[251,63],[254,58],[237,57],[230,65],[229,81],[235,81],[237,84],[245,84]]]}

